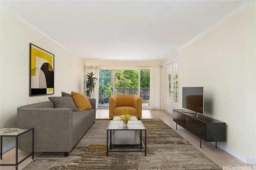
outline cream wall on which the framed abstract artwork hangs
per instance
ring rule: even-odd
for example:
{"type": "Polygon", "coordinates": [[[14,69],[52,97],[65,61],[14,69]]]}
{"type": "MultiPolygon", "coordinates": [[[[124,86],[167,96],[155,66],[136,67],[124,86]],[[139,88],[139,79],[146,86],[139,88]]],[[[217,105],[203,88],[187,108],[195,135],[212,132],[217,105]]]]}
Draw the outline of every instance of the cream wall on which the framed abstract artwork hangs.
{"type": "MultiPolygon", "coordinates": [[[[84,61],[35,29],[1,10],[0,127],[17,127],[17,107],[49,101],[61,92],[83,93],[84,61]],[[54,94],[29,97],[30,43],[53,53],[54,94]]],[[[4,149],[13,139],[4,138],[4,149]]]]}

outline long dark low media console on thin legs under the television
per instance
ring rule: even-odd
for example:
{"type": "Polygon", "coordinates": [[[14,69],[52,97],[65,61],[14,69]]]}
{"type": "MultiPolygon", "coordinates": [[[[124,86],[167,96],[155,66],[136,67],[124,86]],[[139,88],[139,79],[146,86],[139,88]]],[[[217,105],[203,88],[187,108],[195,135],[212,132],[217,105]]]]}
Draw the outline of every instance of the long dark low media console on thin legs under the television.
{"type": "Polygon", "coordinates": [[[206,142],[226,141],[226,123],[186,109],[173,109],[173,121],[206,142]]]}

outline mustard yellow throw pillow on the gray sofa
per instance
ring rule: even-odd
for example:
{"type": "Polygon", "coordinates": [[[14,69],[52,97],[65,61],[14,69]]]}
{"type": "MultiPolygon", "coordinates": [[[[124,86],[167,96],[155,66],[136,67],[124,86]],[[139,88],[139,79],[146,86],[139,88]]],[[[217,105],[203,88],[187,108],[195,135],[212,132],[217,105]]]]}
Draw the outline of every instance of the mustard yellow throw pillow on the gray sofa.
{"type": "Polygon", "coordinates": [[[71,92],[71,96],[76,104],[78,110],[88,110],[92,109],[92,105],[90,104],[88,98],[84,94],[80,94],[77,92],[71,92]]]}

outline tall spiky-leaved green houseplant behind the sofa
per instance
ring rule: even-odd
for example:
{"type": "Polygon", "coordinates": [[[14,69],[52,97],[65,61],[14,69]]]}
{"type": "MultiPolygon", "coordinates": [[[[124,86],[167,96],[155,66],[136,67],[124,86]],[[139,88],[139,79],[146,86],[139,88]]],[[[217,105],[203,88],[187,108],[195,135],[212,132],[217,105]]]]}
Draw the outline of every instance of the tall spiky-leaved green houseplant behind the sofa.
{"type": "Polygon", "coordinates": [[[94,92],[94,87],[96,85],[96,81],[98,80],[96,77],[93,77],[94,73],[87,73],[84,77],[84,94],[87,98],[92,97],[92,92],[94,92]]]}

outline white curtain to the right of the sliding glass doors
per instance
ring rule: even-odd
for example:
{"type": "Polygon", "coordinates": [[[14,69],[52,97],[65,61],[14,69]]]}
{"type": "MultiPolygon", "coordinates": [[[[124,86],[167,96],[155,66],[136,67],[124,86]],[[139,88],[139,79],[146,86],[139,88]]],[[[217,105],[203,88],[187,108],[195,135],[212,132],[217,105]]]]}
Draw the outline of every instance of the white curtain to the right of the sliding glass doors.
{"type": "Polygon", "coordinates": [[[161,109],[161,72],[159,66],[150,67],[150,110],[161,109]]]}

